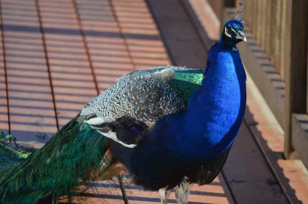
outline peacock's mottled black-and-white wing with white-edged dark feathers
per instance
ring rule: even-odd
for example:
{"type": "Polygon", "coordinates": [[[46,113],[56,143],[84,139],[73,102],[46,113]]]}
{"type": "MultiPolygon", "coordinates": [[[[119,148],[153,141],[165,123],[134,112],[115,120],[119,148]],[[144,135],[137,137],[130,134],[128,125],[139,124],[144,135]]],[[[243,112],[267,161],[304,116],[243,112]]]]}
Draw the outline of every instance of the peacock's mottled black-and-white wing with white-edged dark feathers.
{"type": "Polygon", "coordinates": [[[83,108],[79,121],[126,147],[135,147],[159,117],[184,108],[183,100],[169,85],[177,70],[186,69],[165,66],[122,76],[83,108]]]}

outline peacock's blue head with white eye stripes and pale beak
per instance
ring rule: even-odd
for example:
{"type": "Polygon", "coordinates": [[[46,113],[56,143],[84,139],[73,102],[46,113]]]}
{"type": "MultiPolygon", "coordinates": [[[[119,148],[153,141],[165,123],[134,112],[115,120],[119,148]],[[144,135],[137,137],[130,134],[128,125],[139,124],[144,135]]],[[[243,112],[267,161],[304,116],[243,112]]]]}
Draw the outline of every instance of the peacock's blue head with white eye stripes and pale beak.
{"type": "Polygon", "coordinates": [[[221,42],[234,46],[235,44],[243,40],[246,41],[242,22],[237,20],[231,20],[226,22],[224,29],[221,33],[221,42]]]}

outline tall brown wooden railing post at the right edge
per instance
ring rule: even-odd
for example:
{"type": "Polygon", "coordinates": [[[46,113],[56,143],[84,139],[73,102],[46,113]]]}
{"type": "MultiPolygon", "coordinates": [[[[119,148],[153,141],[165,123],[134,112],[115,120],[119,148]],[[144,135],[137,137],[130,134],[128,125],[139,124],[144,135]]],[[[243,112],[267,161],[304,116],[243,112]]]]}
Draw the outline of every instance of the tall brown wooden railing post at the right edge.
{"type": "Polygon", "coordinates": [[[291,116],[306,113],[308,1],[288,0],[286,8],[284,155],[291,159],[291,116]]]}

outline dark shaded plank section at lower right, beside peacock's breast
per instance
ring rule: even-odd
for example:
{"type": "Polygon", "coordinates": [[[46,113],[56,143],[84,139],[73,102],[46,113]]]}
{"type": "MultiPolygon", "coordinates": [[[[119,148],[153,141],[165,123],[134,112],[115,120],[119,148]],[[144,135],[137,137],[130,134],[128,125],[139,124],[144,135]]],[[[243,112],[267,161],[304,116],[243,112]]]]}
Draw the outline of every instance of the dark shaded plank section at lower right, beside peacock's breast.
{"type": "Polygon", "coordinates": [[[237,203],[288,203],[245,123],[223,172],[237,203]]]}

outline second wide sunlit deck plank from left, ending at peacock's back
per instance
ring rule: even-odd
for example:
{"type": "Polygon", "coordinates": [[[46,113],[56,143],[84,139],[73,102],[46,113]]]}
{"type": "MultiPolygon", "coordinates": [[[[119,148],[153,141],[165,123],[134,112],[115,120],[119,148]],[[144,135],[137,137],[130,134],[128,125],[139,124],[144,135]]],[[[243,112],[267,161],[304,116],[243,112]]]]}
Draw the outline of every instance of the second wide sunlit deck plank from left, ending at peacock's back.
{"type": "Polygon", "coordinates": [[[95,98],[97,91],[73,3],[47,0],[38,2],[56,113],[59,126],[62,127],[95,98]]]}

